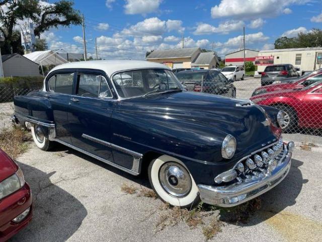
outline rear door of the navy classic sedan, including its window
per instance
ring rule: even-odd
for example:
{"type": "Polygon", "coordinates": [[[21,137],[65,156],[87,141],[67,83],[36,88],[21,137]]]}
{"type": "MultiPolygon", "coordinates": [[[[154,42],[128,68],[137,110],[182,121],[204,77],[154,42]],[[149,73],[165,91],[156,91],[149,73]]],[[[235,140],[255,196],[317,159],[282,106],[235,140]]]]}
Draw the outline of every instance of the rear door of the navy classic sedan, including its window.
{"type": "Polygon", "coordinates": [[[51,104],[51,114],[56,125],[56,139],[71,144],[68,126],[68,104],[72,94],[75,70],[59,70],[46,79],[44,94],[51,104]]]}

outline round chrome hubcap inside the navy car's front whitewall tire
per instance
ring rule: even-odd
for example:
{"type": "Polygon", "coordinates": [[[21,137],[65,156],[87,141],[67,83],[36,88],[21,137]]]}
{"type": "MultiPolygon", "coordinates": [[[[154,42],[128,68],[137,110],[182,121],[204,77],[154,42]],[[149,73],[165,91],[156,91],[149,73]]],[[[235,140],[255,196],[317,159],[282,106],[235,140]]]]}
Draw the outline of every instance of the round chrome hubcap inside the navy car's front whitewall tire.
{"type": "Polygon", "coordinates": [[[186,196],[192,187],[189,172],[176,162],[167,162],[160,167],[159,181],[163,189],[175,197],[186,196]]]}

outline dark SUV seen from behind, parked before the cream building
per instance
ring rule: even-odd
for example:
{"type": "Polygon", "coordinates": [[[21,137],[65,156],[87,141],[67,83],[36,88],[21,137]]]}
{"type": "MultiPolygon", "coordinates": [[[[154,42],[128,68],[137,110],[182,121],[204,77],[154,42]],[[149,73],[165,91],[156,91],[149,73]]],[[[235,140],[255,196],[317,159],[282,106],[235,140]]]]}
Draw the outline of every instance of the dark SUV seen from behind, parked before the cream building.
{"type": "Polygon", "coordinates": [[[298,73],[290,64],[279,64],[267,66],[262,72],[261,84],[262,86],[270,85],[274,81],[298,77],[298,73]]]}

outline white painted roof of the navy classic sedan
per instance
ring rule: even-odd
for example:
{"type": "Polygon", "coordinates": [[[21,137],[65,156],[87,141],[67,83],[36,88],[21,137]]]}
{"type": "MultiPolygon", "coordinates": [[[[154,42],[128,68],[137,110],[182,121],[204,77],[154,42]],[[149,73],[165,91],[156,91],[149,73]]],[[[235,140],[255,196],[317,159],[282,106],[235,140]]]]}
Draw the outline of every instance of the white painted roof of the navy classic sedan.
{"type": "Polygon", "coordinates": [[[149,69],[149,68],[163,68],[171,70],[164,64],[146,61],[127,61],[127,60],[113,60],[113,61],[87,61],[87,62],[72,62],[59,65],[53,68],[49,73],[61,69],[96,69],[104,71],[108,77],[115,72],[133,70],[133,69],[149,69]]]}

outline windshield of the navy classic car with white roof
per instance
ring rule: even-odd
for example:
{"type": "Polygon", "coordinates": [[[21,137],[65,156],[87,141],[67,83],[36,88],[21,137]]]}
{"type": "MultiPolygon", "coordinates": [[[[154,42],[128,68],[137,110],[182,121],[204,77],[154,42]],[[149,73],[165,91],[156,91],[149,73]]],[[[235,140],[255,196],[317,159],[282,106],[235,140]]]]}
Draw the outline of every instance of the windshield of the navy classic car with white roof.
{"type": "Polygon", "coordinates": [[[117,73],[113,83],[120,97],[143,96],[150,92],[184,90],[172,71],[165,69],[133,70],[117,73]]]}

